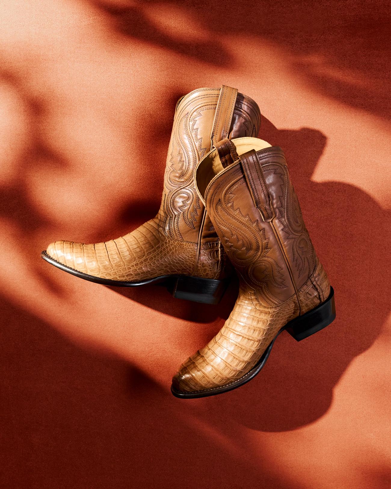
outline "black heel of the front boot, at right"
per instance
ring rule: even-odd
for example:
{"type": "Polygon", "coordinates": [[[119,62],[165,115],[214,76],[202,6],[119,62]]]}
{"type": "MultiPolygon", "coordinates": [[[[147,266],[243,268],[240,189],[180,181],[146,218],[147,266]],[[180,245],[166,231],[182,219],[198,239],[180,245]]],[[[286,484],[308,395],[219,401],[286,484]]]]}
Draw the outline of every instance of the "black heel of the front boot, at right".
{"type": "Polygon", "coordinates": [[[296,341],[301,341],[311,334],[317,333],[323,328],[326,328],[335,319],[335,302],[334,289],[330,287],[330,295],[325,302],[320,304],[312,311],[308,311],[303,316],[297,317],[290,321],[285,327],[285,330],[295,338],[296,341]]]}

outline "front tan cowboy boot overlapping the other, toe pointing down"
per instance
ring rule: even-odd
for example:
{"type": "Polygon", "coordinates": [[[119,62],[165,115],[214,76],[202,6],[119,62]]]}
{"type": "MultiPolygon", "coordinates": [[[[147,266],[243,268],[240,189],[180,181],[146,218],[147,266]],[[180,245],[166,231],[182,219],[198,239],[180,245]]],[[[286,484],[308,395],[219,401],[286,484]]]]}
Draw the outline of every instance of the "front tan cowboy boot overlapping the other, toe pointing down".
{"type": "Polygon", "coordinates": [[[226,149],[235,163],[224,168],[213,150],[199,163],[195,181],[239,275],[239,295],[221,331],[173,378],[172,392],[180,398],[239,387],[260,372],[282,331],[300,341],[335,318],[333,289],[282,149],[250,137],[226,149]]]}

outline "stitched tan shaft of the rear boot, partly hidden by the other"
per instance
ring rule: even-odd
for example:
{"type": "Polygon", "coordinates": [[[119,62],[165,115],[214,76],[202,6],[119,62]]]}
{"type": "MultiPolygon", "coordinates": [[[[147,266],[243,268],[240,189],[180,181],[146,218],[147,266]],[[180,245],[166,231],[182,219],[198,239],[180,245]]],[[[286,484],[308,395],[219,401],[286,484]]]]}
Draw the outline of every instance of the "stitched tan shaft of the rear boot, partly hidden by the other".
{"type": "Polygon", "coordinates": [[[256,136],[260,122],[258,105],[230,87],[197,89],[178,101],[158,215],[166,236],[192,243],[217,240],[195,191],[195,167],[220,139],[256,136]]]}

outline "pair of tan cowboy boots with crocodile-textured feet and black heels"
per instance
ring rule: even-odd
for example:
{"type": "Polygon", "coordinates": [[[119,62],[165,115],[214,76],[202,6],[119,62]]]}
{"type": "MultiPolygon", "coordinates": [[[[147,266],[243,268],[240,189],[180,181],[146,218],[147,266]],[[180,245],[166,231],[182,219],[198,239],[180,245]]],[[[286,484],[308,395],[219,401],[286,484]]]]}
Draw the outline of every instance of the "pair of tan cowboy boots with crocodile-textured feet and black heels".
{"type": "Polygon", "coordinates": [[[174,297],[216,304],[232,272],[234,309],[173,378],[179,398],[239,387],[263,367],[278,334],[300,341],[335,318],[333,289],[305,228],[282,149],[258,139],[258,105],[238,90],[179,99],[157,216],[98,244],[57,241],[42,257],[93,282],[164,282],[174,297]]]}

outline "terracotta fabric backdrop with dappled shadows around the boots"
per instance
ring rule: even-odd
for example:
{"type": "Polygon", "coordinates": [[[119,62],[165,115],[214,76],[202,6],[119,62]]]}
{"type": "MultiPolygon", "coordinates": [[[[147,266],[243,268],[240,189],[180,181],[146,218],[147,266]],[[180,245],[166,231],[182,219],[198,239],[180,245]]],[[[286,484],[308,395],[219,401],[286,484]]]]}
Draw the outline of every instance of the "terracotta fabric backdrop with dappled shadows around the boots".
{"type": "Polygon", "coordinates": [[[1,487],[389,488],[387,3],[0,3],[1,487]],[[177,98],[222,83],[286,151],[338,318],[282,335],[244,387],[185,401],[172,374],[235,285],[197,305],[40,252],[154,216],[177,98]]]}

